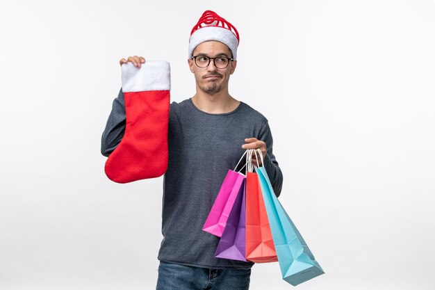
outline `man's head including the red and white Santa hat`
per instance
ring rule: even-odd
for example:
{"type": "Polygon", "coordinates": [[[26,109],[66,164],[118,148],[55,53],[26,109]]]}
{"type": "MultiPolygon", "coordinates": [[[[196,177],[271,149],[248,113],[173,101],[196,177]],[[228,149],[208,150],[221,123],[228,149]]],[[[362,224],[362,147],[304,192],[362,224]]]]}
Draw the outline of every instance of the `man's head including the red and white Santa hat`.
{"type": "Polygon", "coordinates": [[[234,26],[213,11],[204,12],[189,41],[188,63],[197,89],[211,95],[228,90],[229,76],[236,70],[238,40],[234,26]]]}

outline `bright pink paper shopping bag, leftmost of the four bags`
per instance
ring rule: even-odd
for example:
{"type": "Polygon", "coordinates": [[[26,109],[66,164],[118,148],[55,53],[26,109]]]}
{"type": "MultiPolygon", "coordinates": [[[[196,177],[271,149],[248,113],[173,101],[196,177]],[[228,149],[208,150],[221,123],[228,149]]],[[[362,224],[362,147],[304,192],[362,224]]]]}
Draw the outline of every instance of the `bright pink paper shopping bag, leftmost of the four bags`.
{"type": "Polygon", "coordinates": [[[205,232],[209,232],[210,234],[219,237],[222,236],[222,232],[224,232],[224,227],[227,224],[238,191],[245,180],[245,175],[243,175],[240,170],[239,172],[235,171],[245,154],[246,152],[242,155],[234,170],[228,170],[227,176],[220,187],[220,191],[217,193],[213,207],[211,207],[211,211],[204,223],[204,227],[202,227],[202,230],[205,232]]]}

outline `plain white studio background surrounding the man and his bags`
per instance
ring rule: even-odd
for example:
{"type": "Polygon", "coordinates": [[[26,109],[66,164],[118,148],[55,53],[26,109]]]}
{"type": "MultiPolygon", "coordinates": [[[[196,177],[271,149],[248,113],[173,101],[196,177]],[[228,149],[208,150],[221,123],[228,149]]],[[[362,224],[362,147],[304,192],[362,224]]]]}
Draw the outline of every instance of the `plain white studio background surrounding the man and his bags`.
{"type": "MultiPolygon", "coordinates": [[[[326,274],[298,289],[435,287],[434,1],[2,1],[0,289],[154,289],[162,178],[99,152],[120,58],[170,61],[206,9],[240,33],[231,95],[270,121],[280,200],[326,274]]],[[[213,146],[213,144],[211,144],[213,146]]],[[[290,289],[278,264],[253,290],[290,289]]]]}

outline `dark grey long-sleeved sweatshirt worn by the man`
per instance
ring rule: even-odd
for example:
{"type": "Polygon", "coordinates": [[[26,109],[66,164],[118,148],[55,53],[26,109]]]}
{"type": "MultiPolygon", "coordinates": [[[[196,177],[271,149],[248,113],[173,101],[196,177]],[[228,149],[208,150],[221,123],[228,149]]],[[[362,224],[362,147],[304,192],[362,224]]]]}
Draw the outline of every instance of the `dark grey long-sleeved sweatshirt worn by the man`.
{"type": "MultiPolygon", "coordinates": [[[[121,142],[125,127],[124,94],[120,90],[101,138],[104,156],[121,142]]],[[[200,111],[191,99],[170,104],[159,260],[206,268],[252,266],[252,262],[215,258],[220,238],[202,231],[228,170],[234,169],[245,152],[245,138],[250,137],[263,140],[268,147],[264,167],[278,196],[283,176],[272,153],[268,120],[261,113],[243,102],[222,114],[200,111]]]]}

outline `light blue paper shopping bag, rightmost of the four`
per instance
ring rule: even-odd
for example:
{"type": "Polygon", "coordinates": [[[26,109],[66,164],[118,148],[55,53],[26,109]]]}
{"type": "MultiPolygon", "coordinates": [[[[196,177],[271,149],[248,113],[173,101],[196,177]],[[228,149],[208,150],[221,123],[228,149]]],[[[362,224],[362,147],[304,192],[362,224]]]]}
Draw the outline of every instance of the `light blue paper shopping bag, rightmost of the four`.
{"type": "MultiPolygon", "coordinates": [[[[260,153],[261,154],[261,153],[260,153]]],[[[286,282],[296,286],[325,273],[306,245],[301,234],[274,194],[272,184],[264,167],[256,169],[268,213],[270,229],[286,282]]]]}

